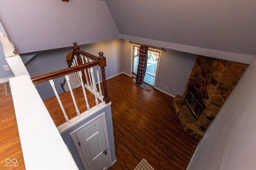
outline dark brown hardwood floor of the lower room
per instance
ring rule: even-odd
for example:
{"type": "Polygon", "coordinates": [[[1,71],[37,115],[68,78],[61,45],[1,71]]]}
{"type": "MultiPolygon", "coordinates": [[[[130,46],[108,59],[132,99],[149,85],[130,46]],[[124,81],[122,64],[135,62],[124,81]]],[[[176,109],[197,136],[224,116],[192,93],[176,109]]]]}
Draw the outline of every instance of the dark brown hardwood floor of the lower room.
{"type": "Polygon", "coordinates": [[[184,131],[173,98],[124,74],[107,80],[107,88],[117,159],[109,170],[133,170],[142,158],[155,170],[185,170],[199,140],[184,131]]]}

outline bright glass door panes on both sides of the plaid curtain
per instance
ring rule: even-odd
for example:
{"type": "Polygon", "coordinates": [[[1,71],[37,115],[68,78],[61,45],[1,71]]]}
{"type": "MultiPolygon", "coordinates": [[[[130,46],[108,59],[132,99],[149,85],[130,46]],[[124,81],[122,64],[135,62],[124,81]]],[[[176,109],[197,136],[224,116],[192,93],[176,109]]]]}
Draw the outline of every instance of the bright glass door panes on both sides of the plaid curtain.
{"type": "MultiPolygon", "coordinates": [[[[140,47],[132,46],[132,76],[137,75],[138,62],[139,62],[139,50],[140,47]]],[[[158,67],[158,61],[160,59],[161,51],[156,49],[148,48],[148,63],[146,68],[146,74],[144,77],[144,82],[154,86],[156,81],[156,72],[158,67]]]]}

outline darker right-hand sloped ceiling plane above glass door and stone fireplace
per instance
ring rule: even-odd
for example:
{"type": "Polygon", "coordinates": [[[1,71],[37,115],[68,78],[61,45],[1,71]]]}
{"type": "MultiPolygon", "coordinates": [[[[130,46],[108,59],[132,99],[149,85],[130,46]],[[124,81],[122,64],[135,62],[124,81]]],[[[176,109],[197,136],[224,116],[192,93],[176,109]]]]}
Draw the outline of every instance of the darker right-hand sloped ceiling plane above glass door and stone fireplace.
{"type": "Polygon", "coordinates": [[[255,0],[105,0],[121,34],[256,54],[255,0]]]}

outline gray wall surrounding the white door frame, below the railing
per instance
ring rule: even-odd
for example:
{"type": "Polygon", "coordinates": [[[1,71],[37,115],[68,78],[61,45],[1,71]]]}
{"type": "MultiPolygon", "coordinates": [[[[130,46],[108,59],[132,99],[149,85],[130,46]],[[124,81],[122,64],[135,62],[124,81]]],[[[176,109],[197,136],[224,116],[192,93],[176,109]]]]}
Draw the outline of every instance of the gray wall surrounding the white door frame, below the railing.
{"type": "Polygon", "coordinates": [[[65,133],[61,134],[62,139],[64,140],[66,145],[68,145],[68,148],[70,149],[70,152],[71,152],[72,156],[74,157],[74,160],[76,161],[76,164],[78,165],[78,168],[80,170],[84,170],[84,166],[83,166],[80,156],[76,150],[74,142],[70,136],[70,133],[72,133],[73,131],[76,131],[76,129],[79,129],[80,127],[82,127],[83,125],[85,125],[86,123],[93,120],[98,115],[100,115],[104,112],[106,115],[106,123],[107,123],[107,128],[108,128],[108,139],[109,139],[109,144],[110,144],[111,159],[112,159],[112,162],[114,162],[114,160],[116,160],[116,151],[115,151],[115,144],[114,144],[114,133],[113,133],[112,115],[111,115],[111,107],[110,106],[106,107],[105,109],[99,111],[95,115],[89,117],[85,121],[79,123],[78,125],[72,127],[65,133]]]}

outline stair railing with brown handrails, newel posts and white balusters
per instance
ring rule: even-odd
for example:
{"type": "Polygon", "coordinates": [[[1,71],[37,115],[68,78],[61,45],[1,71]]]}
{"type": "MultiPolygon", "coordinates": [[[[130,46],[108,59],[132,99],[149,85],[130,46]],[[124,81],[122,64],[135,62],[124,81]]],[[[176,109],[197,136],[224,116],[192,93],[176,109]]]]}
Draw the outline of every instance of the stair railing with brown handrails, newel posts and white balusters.
{"type": "MultiPolygon", "coordinates": [[[[74,45],[76,47],[75,43],[74,43],[74,45]]],[[[53,81],[54,78],[65,76],[65,86],[64,86],[64,88],[66,88],[67,91],[70,91],[70,94],[72,96],[72,100],[74,102],[74,107],[76,109],[76,113],[77,113],[78,117],[80,116],[80,111],[79,111],[78,106],[76,104],[76,99],[74,97],[72,89],[76,88],[78,86],[78,84],[80,84],[80,85],[83,84],[83,82],[84,82],[83,72],[84,72],[84,74],[87,74],[87,70],[90,71],[90,77],[91,77],[91,82],[92,82],[92,89],[90,88],[90,86],[88,86],[88,84],[82,86],[87,111],[90,111],[90,106],[88,104],[88,99],[87,99],[85,88],[87,88],[90,92],[92,92],[94,94],[96,106],[99,106],[99,102],[98,102],[97,97],[100,96],[100,95],[101,95],[100,99],[103,100],[103,102],[105,102],[106,104],[108,104],[110,102],[110,100],[108,98],[108,94],[107,94],[105,68],[104,68],[106,66],[106,58],[103,56],[103,53],[100,52],[99,53],[100,56],[96,57],[94,55],[86,53],[85,51],[79,50],[79,47],[78,47],[78,49],[76,49],[76,51],[75,51],[75,54],[76,55],[82,55],[83,57],[87,57],[88,62],[85,63],[85,64],[78,64],[78,65],[75,65],[73,63],[72,66],[69,67],[69,68],[66,68],[66,69],[63,69],[63,70],[58,70],[58,71],[55,71],[55,72],[51,72],[51,73],[48,73],[48,74],[43,74],[43,75],[31,78],[33,84],[38,84],[38,83],[45,82],[45,81],[50,82],[50,85],[53,88],[54,94],[55,94],[55,96],[58,100],[58,103],[60,105],[60,108],[62,109],[62,113],[63,113],[67,123],[69,123],[69,118],[66,114],[66,111],[65,111],[63,105],[62,105],[60,97],[58,96],[58,93],[55,89],[55,84],[54,84],[54,81],[53,81]],[[101,90],[100,90],[100,92],[98,92],[97,88],[96,88],[94,72],[93,72],[93,67],[96,67],[96,66],[100,66],[100,68],[101,68],[102,85],[103,85],[103,90],[104,90],[104,96],[102,96],[101,90]]],[[[76,63],[76,59],[74,59],[74,62],[76,63]]],[[[99,89],[100,89],[98,69],[96,69],[96,70],[97,70],[98,86],[99,86],[99,89]]],[[[86,81],[88,81],[88,80],[86,80],[86,81]]]]}

